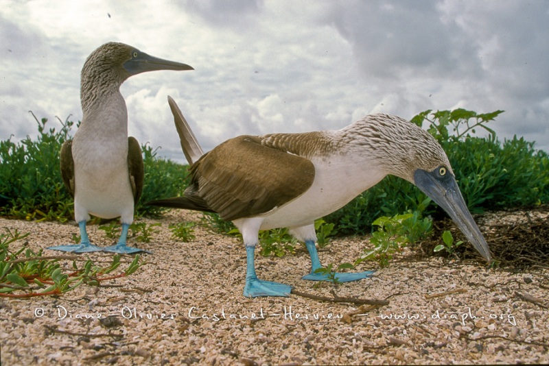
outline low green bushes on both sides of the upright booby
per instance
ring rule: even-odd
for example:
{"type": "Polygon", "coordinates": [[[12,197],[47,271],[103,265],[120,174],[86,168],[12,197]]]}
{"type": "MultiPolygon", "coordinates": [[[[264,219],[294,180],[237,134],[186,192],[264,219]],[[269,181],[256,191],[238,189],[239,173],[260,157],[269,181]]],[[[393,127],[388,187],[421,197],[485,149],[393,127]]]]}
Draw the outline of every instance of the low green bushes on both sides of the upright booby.
{"type": "MultiPolygon", "coordinates": [[[[73,218],[73,199],[61,179],[59,153],[61,145],[72,138],[74,123],[68,118],[59,122],[59,130],[47,129],[47,119],[36,119],[36,141],[30,136],[19,143],[14,143],[12,136],[0,141],[0,215],[27,220],[73,218]]],[[[145,206],[143,202],[182,192],[187,185],[187,166],[157,158],[158,149],[147,144],[141,148],[145,180],[135,210],[137,216],[151,216],[162,208],[145,206]]]]}

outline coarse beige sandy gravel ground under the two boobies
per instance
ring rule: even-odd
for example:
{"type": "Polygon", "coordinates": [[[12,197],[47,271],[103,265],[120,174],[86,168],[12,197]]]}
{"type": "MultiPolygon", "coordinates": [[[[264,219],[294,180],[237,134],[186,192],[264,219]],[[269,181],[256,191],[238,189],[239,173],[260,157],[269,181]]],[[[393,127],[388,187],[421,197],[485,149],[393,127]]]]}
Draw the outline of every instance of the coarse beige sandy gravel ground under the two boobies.
{"type": "MultiPolygon", "coordinates": [[[[107,283],[117,286],[83,285],[30,300],[0,297],[1,364],[549,363],[547,271],[513,274],[474,261],[398,260],[371,279],[314,288],[301,280],[310,266],[303,249],[283,258],[258,254],[259,278],[314,295],[335,291],[389,304],[359,307],[298,295],[247,299],[239,239],[200,226],[190,243],[172,238],[169,223],[199,217],[172,211],[143,220],[162,226],[150,243],[130,245],[154,254],[137,273],[107,283]]],[[[69,243],[78,234],[74,223],[0,219],[3,228],[30,232],[25,240],[33,249],[69,243]]],[[[97,225],[89,234],[98,245],[112,241],[97,225]]],[[[363,237],[338,238],[320,260],[352,262],[368,244],[363,237]]],[[[111,254],[89,256],[100,261],[111,254]]],[[[122,267],[131,259],[124,257],[122,267]]]]}

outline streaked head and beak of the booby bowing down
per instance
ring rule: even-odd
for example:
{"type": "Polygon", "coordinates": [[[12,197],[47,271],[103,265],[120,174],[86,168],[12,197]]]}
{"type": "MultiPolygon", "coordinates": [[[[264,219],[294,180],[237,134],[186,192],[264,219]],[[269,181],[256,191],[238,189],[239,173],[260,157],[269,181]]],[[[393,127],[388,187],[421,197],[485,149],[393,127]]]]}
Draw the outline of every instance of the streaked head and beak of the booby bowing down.
{"type": "Polygon", "coordinates": [[[441,145],[414,123],[387,114],[374,114],[359,128],[369,145],[369,158],[388,174],[412,182],[441,206],[474,245],[491,262],[491,254],[461,195],[456,177],[441,145]]]}

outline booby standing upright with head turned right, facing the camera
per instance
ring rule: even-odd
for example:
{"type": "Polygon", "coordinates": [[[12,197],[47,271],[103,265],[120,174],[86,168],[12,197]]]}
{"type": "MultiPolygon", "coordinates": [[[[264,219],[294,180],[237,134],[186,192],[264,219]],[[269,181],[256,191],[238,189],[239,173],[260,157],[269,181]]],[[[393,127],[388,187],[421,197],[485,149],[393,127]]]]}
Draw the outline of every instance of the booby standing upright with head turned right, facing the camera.
{"type": "Polygon", "coordinates": [[[109,42],[95,49],[84,62],[80,83],[82,123],[72,141],[61,148],[61,175],[74,198],[74,216],[80,244],[48,249],[65,252],[135,253],[126,237],[134,204],[143,190],[141,147],[128,138],[128,110],[121,84],[132,75],[155,70],[193,70],[187,64],[149,56],[135,47],[109,42]],[[122,232],[116,245],[91,245],[86,233],[90,214],[103,219],[120,217],[122,232]]]}

